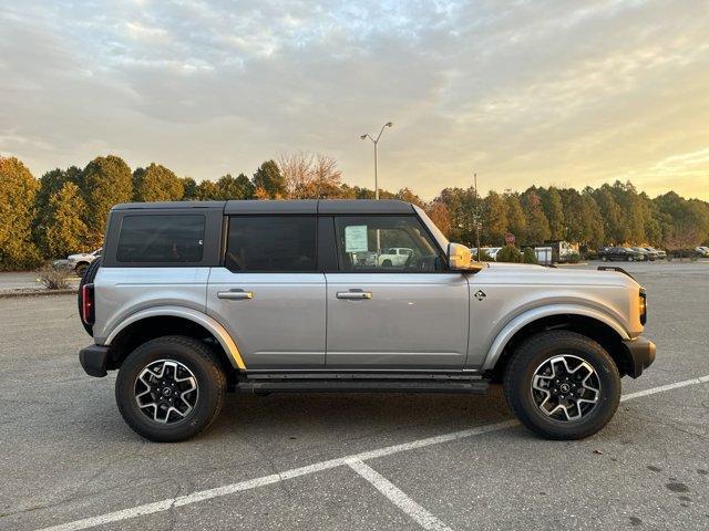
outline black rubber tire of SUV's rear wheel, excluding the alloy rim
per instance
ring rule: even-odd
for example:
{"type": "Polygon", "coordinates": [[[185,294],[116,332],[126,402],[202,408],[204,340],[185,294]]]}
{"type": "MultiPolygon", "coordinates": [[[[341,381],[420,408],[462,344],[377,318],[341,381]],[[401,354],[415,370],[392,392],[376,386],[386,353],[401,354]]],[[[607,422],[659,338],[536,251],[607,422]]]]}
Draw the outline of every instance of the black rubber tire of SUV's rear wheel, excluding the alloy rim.
{"type": "Polygon", "coordinates": [[[166,335],[142,344],[126,357],[115,382],[115,400],[123,419],[136,434],[156,442],[177,442],[194,437],[214,421],[224,405],[226,386],[226,375],[207,345],[193,337],[166,335]],[[138,374],[158,360],[179,362],[197,381],[198,398],[194,409],[172,424],[148,418],[135,398],[138,374]]]}

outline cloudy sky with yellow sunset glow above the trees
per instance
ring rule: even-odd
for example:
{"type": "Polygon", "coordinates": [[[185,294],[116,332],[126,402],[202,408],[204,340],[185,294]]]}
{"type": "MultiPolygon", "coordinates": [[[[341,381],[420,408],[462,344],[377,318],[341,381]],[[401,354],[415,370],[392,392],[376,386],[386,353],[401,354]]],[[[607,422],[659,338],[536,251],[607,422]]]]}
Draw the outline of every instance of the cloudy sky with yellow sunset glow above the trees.
{"type": "Polygon", "coordinates": [[[197,180],[335,157],[424,199],[631,180],[709,199],[706,1],[0,0],[0,155],[197,180]]]}

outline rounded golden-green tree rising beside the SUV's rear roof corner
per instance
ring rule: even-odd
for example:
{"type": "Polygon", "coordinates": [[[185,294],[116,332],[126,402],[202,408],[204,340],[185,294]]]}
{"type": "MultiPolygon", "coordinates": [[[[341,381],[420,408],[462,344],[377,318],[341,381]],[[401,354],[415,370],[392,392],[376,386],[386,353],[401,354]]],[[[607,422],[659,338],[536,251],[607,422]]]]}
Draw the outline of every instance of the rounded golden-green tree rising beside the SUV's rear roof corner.
{"type": "Polygon", "coordinates": [[[96,157],[81,173],[81,195],[86,202],[84,222],[89,228],[92,246],[103,239],[109,211],[119,202],[133,197],[131,168],[121,157],[96,157]]]}

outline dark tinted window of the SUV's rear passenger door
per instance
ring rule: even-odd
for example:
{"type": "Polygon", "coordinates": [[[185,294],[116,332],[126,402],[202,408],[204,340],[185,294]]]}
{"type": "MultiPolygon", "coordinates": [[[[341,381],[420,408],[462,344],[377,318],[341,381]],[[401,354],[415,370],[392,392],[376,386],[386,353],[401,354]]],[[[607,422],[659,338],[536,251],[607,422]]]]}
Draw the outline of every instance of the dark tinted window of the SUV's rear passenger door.
{"type": "Polygon", "coordinates": [[[232,271],[315,271],[315,216],[234,216],[225,266],[232,271]]]}

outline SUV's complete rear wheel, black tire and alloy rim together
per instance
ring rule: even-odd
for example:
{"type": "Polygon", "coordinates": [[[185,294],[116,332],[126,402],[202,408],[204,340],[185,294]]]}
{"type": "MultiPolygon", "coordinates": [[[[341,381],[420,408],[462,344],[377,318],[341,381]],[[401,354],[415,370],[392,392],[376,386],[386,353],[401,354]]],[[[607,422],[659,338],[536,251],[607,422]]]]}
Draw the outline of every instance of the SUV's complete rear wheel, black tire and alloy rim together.
{"type": "Polygon", "coordinates": [[[201,341],[171,335],[148,341],[125,360],[115,398],[126,424],[146,439],[176,442],[219,414],[226,375],[201,341]]]}

